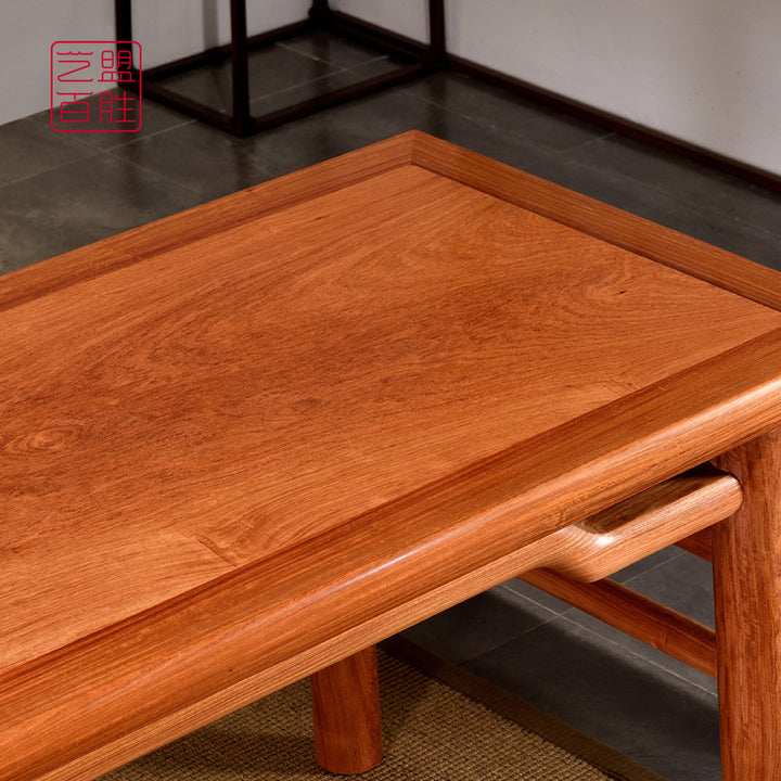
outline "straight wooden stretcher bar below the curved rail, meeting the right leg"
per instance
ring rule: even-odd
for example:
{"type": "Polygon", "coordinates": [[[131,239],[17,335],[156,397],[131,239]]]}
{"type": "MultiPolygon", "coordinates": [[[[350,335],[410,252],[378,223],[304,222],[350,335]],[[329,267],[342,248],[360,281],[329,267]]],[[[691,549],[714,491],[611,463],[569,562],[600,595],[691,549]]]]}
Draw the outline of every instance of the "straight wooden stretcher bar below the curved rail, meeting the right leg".
{"type": "Polygon", "coordinates": [[[649,645],[716,676],[716,632],[614,580],[578,582],[549,569],[522,580],[585,611],[649,645]]]}

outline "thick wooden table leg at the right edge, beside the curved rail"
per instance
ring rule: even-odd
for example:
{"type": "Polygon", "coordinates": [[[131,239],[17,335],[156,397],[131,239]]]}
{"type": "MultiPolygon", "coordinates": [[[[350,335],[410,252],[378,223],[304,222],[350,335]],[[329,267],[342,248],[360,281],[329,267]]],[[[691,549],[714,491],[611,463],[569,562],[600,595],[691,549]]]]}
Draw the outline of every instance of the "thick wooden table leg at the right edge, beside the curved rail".
{"type": "Polygon", "coordinates": [[[720,457],[743,505],[713,534],[724,781],[781,779],[781,431],[720,457]]]}

